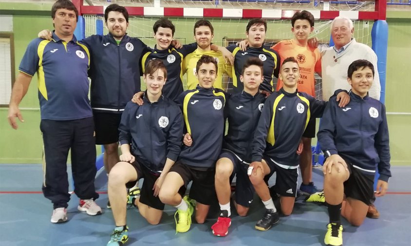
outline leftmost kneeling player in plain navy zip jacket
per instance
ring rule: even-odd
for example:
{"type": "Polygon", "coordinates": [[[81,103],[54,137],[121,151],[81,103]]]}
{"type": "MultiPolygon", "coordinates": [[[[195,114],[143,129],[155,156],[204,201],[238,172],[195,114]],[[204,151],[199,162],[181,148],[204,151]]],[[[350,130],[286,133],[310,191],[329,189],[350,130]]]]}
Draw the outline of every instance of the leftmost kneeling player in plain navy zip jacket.
{"type": "Polygon", "coordinates": [[[131,197],[133,204],[150,224],[160,222],[164,204],[158,193],[180,154],[184,126],[180,108],[162,95],[166,78],[163,62],[150,60],[143,75],[147,85],[144,104],[129,102],[121,117],[121,161],[110,171],[108,190],[116,227],[107,246],[127,242],[126,187],[133,187],[141,178],[144,178],[141,195],[131,197]]]}

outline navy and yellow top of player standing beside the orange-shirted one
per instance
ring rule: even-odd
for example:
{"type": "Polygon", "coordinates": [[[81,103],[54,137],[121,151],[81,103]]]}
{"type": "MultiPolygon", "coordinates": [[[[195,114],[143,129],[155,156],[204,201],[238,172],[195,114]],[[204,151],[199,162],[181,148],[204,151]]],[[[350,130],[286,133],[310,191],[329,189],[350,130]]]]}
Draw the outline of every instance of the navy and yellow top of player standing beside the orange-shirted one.
{"type": "Polygon", "coordinates": [[[232,67],[233,83],[230,84],[231,93],[240,93],[243,91],[243,83],[240,81],[241,70],[248,58],[258,57],[262,60],[264,80],[260,85],[260,90],[273,92],[273,76],[278,77],[280,72],[280,56],[272,49],[247,47],[243,52],[240,47],[230,45],[227,47],[234,56],[234,66],[232,67]]]}

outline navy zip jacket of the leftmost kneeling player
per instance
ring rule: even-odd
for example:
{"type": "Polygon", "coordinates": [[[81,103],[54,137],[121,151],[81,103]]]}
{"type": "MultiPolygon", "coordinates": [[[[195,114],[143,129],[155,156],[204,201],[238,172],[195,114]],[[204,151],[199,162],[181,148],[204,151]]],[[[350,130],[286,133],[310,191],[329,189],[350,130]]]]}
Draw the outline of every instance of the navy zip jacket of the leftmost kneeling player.
{"type": "Polygon", "coordinates": [[[136,160],[149,170],[161,171],[166,159],[177,160],[181,151],[183,114],[180,108],[167,97],[144,104],[129,102],[121,115],[120,144],[130,144],[136,160]]]}

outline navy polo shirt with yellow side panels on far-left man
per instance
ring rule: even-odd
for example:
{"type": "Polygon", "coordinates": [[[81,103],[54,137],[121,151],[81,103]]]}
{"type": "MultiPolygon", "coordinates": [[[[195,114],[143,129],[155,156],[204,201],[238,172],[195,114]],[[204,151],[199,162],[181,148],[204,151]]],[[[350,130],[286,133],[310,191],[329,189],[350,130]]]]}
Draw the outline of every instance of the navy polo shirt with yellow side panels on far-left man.
{"type": "Polygon", "coordinates": [[[93,116],[88,98],[89,50],[74,36],[66,42],[53,32],[52,38],[32,40],[19,66],[19,71],[29,76],[37,72],[41,119],[93,116]]]}

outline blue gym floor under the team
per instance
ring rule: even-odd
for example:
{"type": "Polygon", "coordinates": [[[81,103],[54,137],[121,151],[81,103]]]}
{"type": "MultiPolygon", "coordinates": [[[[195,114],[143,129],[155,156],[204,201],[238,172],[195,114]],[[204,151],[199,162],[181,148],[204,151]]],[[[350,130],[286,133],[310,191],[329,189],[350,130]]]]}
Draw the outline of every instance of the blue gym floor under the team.
{"type": "MultiPolygon", "coordinates": [[[[70,173],[70,171],[69,171],[70,173]]],[[[379,219],[366,218],[361,227],[343,222],[344,245],[347,246],[410,246],[411,245],[411,167],[392,167],[389,194],[377,198],[379,219]]],[[[313,180],[322,187],[322,172],[315,168],[313,180]]],[[[99,171],[97,203],[104,208],[100,216],[89,216],[77,210],[78,198],[73,195],[68,208],[69,221],[50,223],[52,204],[41,193],[41,165],[0,165],[0,245],[1,246],[105,246],[114,227],[107,204],[107,176],[99,171]]],[[[270,183],[275,182],[270,180],[270,183]]],[[[300,183],[300,182],[299,182],[300,183]]],[[[150,226],[136,209],[128,210],[130,246],[151,245],[215,245],[218,246],[320,246],[328,223],[326,207],[296,202],[293,214],[280,218],[268,231],[254,229],[262,217],[263,206],[256,198],[248,217],[234,212],[229,234],[212,235],[218,208],[209,214],[204,225],[192,224],[186,233],[175,234],[175,208],[166,206],[161,223],[150,226]]],[[[232,211],[235,211],[232,209],[232,211]]]]}

